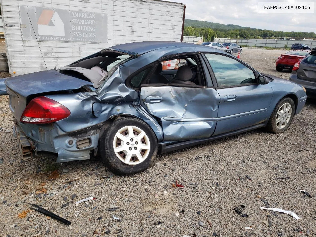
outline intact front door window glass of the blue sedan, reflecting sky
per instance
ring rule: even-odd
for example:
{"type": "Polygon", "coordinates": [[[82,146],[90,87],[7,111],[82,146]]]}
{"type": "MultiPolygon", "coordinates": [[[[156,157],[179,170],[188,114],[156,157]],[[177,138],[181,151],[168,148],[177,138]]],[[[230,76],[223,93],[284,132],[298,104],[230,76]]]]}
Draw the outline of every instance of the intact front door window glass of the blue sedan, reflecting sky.
{"type": "Polygon", "coordinates": [[[219,87],[255,83],[252,70],[233,58],[219,54],[205,54],[213,69],[219,87]]]}

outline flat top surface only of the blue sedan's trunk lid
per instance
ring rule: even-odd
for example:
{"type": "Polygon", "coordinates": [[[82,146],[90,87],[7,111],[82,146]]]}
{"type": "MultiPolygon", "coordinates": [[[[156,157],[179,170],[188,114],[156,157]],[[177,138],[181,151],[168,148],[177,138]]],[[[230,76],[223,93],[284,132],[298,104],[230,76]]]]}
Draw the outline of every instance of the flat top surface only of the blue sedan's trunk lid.
{"type": "Polygon", "coordinates": [[[54,69],[10,77],[5,84],[24,97],[31,94],[79,89],[86,85],[93,86],[91,82],[64,75],[54,69]]]}

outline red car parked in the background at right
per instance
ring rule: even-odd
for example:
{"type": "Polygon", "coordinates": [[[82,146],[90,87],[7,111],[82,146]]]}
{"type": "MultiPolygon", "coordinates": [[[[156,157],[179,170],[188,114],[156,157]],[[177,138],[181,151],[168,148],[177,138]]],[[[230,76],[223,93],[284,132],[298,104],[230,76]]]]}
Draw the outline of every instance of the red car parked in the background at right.
{"type": "Polygon", "coordinates": [[[276,70],[282,71],[283,69],[287,69],[292,71],[294,64],[300,62],[310,52],[310,50],[297,49],[281,54],[276,60],[276,70]]]}

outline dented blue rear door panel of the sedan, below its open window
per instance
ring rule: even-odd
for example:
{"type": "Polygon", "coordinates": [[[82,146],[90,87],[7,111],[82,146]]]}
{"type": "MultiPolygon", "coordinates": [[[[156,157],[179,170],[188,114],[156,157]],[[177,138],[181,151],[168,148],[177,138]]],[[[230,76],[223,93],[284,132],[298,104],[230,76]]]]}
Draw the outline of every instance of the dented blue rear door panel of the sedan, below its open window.
{"type": "Polygon", "coordinates": [[[220,96],[214,88],[144,85],[140,98],[161,120],[163,141],[207,138],[215,130],[220,96]]]}

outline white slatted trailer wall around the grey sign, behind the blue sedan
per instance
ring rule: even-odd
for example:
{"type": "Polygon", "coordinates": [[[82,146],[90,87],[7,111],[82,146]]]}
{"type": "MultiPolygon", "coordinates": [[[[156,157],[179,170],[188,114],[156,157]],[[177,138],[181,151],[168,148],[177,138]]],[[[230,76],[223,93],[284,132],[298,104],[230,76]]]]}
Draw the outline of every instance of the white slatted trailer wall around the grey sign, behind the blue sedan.
{"type": "MultiPolygon", "coordinates": [[[[1,0],[1,6],[11,75],[46,70],[40,49],[47,68],[52,69],[117,44],[181,40],[184,5],[180,3],[155,0],[1,0]],[[21,27],[26,26],[21,25],[20,5],[107,14],[106,43],[23,40],[21,27]]],[[[33,15],[29,17],[35,19],[33,15]]]]}

